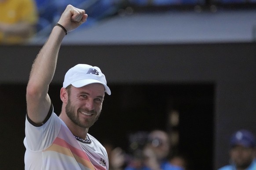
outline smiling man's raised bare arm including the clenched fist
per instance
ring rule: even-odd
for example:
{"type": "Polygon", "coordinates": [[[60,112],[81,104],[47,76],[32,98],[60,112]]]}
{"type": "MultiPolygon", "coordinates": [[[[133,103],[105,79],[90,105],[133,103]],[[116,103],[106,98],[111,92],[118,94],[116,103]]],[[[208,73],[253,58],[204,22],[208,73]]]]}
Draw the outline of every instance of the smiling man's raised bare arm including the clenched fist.
{"type": "MultiPolygon", "coordinates": [[[[70,32],[84,23],[86,18],[87,14],[84,10],[68,5],[58,23],[70,32]]],[[[52,29],[30,72],[26,92],[27,113],[36,124],[44,121],[50,109],[51,99],[48,88],[55,73],[59,49],[65,35],[66,33],[59,26],[52,29]]]]}

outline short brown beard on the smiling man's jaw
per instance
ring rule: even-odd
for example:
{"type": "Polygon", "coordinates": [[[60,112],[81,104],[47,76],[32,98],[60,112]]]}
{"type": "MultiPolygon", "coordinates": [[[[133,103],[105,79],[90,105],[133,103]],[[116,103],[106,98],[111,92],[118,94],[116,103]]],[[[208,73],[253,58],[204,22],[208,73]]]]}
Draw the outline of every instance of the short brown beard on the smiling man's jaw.
{"type": "Polygon", "coordinates": [[[84,129],[86,128],[89,128],[91,127],[98,119],[99,119],[99,116],[100,116],[100,112],[97,113],[95,110],[91,110],[91,111],[88,111],[88,113],[94,113],[96,114],[96,117],[94,120],[88,120],[86,123],[83,123],[80,119],[79,119],[79,116],[76,113],[76,110],[75,110],[75,107],[72,106],[70,100],[68,99],[68,103],[65,107],[66,109],[66,114],[67,116],[69,117],[69,119],[76,125],[78,125],[79,127],[82,127],[84,129]]]}

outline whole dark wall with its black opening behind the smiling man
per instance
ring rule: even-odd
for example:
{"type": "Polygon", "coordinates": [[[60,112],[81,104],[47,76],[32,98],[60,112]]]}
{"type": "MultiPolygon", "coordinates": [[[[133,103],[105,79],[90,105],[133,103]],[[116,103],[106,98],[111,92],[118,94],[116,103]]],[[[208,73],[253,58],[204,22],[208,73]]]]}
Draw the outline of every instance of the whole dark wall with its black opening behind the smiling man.
{"type": "MultiPolygon", "coordinates": [[[[62,46],[49,93],[59,113],[59,90],[68,68],[78,63],[99,66],[112,95],[106,96],[91,135],[126,149],[131,132],[167,129],[168,112],[178,110],[179,150],[189,155],[191,169],[214,170],[228,163],[231,133],[240,128],[256,133],[255,47],[255,43],[62,46]]],[[[26,82],[40,48],[0,46],[1,169],[24,168],[26,82]]]]}

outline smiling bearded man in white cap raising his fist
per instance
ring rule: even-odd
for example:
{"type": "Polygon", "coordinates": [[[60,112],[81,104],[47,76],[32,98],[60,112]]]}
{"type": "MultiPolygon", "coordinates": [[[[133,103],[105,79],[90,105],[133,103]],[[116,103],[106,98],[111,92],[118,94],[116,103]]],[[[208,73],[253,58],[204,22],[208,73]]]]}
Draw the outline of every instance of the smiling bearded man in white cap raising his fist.
{"type": "Polygon", "coordinates": [[[34,61],[26,92],[26,170],[108,170],[106,149],[88,134],[105,92],[111,94],[101,70],[78,64],[67,71],[59,117],[48,95],[62,39],[87,17],[84,10],[68,5],[34,61]]]}

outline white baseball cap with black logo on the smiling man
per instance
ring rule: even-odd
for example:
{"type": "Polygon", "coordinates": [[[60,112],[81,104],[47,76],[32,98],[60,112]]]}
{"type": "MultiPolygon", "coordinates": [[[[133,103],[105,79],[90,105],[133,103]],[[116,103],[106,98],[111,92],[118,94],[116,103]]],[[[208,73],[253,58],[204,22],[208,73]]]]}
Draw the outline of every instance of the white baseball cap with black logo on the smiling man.
{"type": "Polygon", "coordinates": [[[105,75],[101,72],[99,67],[91,66],[88,64],[77,64],[70,68],[63,81],[63,87],[69,85],[74,87],[83,87],[92,83],[100,83],[104,85],[105,92],[111,95],[110,88],[107,86],[105,75]]]}

